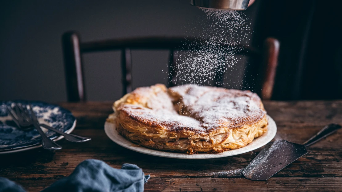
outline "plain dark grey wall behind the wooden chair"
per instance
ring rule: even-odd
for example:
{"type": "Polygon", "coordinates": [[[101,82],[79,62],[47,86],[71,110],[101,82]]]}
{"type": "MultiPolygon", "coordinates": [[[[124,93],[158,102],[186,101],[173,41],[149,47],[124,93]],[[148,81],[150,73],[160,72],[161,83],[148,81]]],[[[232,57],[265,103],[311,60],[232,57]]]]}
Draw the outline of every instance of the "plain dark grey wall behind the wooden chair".
{"type": "MultiPolygon", "coordinates": [[[[49,102],[66,100],[65,31],[79,31],[82,41],[186,36],[206,22],[187,0],[13,0],[1,2],[0,18],[0,100],[49,102]]],[[[120,98],[120,53],[86,54],[83,61],[88,99],[120,98]]],[[[165,51],[133,51],[133,87],[167,83],[167,61],[165,51]]]]}

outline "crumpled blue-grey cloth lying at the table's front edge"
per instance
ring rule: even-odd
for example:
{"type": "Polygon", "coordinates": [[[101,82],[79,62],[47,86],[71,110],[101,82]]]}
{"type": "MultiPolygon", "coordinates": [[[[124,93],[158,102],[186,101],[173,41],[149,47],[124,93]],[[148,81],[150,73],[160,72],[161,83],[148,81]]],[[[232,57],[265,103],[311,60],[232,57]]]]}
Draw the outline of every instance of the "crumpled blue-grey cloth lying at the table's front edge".
{"type": "MultiPolygon", "coordinates": [[[[81,162],[74,172],[54,182],[42,192],[142,192],[144,183],[150,175],[144,175],[141,168],[133,164],[123,164],[115,169],[100,160],[81,162]]],[[[6,178],[0,178],[0,192],[25,192],[25,190],[6,178]]]]}

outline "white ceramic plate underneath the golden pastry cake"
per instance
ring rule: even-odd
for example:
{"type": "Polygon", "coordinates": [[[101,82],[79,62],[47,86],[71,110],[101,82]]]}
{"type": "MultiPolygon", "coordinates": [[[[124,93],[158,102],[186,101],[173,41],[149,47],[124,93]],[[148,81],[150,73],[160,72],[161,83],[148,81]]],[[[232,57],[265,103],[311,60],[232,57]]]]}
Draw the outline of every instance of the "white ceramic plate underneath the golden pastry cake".
{"type": "Polygon", "coordinates": [[[132,151],[139,152],[139,153],[160,156],[160,157],[169,157],[169,158],[175,158],[175,159],[213,159],[213,158],[226,157],[226,156],[246,153],[246,152],[252,151],[254,149],[258,149],[266,145],[269,141],[271,141],[274,138],[274,136],[277,133],[277,125],[274,122],[274,120],[268,115],[267,115],[267,119],[268,119],[268,130],[261,137],[254,139],[247,146],[242,147],[240,149],[234,149],[234,150],[225,151],[223,153],[214,153],[214,154],[198,153],[198,154],[189,155],[185,153],[158,151],[158,150],[142,147],[122,137],[116,131],[115,124],[109,123],[109,122],[105,123],[105,132],[107,136],[118,145],[124,148],[130,149],[132,151]]]}

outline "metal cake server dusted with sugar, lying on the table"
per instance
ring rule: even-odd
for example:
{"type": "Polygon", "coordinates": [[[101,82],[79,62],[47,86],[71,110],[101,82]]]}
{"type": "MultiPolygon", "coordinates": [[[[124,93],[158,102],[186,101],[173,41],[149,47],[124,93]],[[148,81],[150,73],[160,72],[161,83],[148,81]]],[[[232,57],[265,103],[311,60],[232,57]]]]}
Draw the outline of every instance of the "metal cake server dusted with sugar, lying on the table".
{"type": "Polygon", "coordinates": [[[306,147],[340,128],[341,125],[339,124],[329,124],[302,145],[286,140],[269,142],[253,161],[242,169],[242,175],[250,180],[265,181],[299,157],[307,154],[306,147]]]}

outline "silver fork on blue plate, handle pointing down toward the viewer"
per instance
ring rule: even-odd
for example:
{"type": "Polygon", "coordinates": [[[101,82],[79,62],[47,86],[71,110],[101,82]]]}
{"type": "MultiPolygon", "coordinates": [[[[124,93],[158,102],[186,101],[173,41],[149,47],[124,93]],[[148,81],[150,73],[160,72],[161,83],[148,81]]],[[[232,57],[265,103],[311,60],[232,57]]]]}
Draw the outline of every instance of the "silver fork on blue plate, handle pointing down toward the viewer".
{"type": "Polygon", "coordinates": [[[14,104],[15,111],[7,107],[8,113],[12,116],[13,121],[19,126],[19,127],[27,127],[29,125],[35,126],[37,129],[39,135],[42,137],[42,146],[44,149],[50,149],[50,150],[56,150],[56,149],[62,149],[60,145],[55,143],[53,140],[49,139],[43,130],[40,128],[39,123],[37,121],[37,117],[35,113],[32,110],[32,107],[29,106],[31,113],[27,111],[27,108],[25,109],[22,107],[22,105],[16,105],[14,104]]]}

